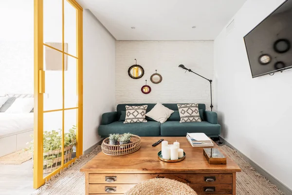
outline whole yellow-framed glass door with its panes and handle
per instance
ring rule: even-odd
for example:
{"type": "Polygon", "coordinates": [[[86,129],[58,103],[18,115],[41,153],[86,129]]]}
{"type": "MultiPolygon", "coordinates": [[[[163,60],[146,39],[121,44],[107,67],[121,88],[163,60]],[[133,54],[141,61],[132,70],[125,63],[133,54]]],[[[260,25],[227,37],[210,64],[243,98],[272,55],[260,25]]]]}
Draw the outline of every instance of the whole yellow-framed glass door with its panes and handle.
{"type": "Polygon", "coordinates": [[[34,188],[71,164],[82,148],[82,7],[35,1],[34,188]]]}

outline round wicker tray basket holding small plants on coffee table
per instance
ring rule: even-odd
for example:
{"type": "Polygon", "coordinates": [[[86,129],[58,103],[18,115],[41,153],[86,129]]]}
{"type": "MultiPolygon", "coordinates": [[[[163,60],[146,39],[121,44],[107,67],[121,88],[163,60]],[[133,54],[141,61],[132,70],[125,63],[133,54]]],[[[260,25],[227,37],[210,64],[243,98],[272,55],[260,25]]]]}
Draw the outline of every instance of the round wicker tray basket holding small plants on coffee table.
{"type": "Polygon", "coordinates": [[[110,139],[105,138],[101,144],[103,153],[111,156],[128,155],[136,152],[141,147],[141,139],[139,136],[132,135],[130,143],[122,145],[110,145],[110,139]]]}

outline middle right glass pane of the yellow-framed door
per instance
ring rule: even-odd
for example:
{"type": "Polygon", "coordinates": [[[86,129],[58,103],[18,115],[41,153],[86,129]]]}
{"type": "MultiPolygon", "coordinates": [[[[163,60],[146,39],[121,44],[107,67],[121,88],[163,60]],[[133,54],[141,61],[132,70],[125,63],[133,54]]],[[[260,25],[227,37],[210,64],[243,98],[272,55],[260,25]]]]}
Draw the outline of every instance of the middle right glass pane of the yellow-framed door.
{"type": "Polygon", "coordinates": [[[78,106],[77,95],[77,59],[67,56],[67,69],[64,71],[64,103],[65,108],[76,108],[78,106]]]}

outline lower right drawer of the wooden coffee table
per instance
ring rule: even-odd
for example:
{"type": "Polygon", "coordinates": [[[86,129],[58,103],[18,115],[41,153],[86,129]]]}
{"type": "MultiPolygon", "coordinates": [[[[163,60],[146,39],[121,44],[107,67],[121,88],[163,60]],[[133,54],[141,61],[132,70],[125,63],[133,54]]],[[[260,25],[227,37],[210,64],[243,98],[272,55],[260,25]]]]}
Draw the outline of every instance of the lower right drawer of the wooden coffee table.
{"type": "Polygon", "coordinates": [[[232,194],[232,184],[190,184],[189,186],[200,195],[232,194]]]}

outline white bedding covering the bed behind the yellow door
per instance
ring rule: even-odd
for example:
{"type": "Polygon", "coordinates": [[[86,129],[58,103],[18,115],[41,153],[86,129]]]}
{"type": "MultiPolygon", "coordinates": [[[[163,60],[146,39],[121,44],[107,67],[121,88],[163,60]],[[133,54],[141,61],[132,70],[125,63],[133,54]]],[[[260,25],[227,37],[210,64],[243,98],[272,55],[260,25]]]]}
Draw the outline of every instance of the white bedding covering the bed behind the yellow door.
{"type": "Polygon", "coordinates": [[[31,131],[34,128],[34,113],[0,113],[0,138],[31,131]]]}

